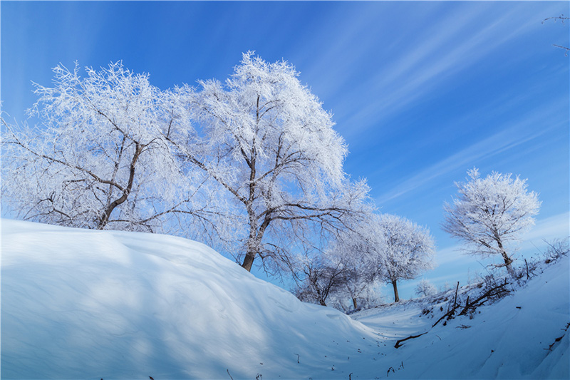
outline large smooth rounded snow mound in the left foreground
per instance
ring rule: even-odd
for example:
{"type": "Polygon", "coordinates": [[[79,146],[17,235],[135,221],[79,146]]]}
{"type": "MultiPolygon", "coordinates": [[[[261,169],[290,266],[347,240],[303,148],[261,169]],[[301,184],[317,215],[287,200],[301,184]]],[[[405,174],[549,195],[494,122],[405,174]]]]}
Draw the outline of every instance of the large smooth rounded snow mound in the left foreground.
{"type": "Polygon", "coordinates": [[[3,379],[324,378],[375,344],[197,242],[1,227],[3,379]]]}

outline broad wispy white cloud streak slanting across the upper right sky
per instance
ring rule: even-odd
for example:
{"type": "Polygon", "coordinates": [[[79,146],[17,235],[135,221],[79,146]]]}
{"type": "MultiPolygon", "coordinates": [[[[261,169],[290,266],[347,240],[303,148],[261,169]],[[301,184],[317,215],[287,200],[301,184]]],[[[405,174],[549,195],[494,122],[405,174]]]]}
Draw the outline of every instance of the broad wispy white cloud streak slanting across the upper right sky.
{"type": "MultiPolygon", "coordinates": [[[[362,133],[364,128],[378,125],[380,120],[410,109],[416,101],[429,98],[443,86],[450,86],[455,78],[460,78],[468,68],[477,66],[494,51],[541,26],[540,16],[531,17],[528,7],[512,7],[493,16],[491,6],[470,4],[468,9],[456,9],[408,41],[405,50],[399,50],[401,55],[390,57],[373,78],[351,88],[355,98],[356,94],[368,93],[369,96],[365,104],[352,106],[350,115],[343,121],[343,125],[350,128],[342,130],[343,135],[348,138],[362,133]],[[526,22],[519,22],[521,19],[526,22]],[[366,120],[375,120],[375,125],[366,120]]],[[[548,14],[558,8],[544,7],[541,11],[548,14]]],[[[356,60],[354,56],[344,59],[356,60]]],[[[338,84],[337,78],[336,82],[338,84]]]]}

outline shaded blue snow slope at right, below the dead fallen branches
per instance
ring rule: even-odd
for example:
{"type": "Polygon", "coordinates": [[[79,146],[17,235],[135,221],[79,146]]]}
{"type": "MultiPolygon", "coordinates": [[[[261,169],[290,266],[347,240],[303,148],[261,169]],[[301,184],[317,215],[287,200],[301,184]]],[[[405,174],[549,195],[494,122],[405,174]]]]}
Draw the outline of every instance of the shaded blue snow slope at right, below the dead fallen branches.
{"type": "Polygon", "coordinates": [[[353,317],[382,332],[391,347],[398,339],[427,332],[385,351],[385,368],[393,371],[385,370],[382,377],[569,379],[569,268],[569,257],[564,257],[522,289],[478,308],[472,319],[456,317],[446,326],[431,328],[440,315],[422,316],[421,300],[353,317]]]}

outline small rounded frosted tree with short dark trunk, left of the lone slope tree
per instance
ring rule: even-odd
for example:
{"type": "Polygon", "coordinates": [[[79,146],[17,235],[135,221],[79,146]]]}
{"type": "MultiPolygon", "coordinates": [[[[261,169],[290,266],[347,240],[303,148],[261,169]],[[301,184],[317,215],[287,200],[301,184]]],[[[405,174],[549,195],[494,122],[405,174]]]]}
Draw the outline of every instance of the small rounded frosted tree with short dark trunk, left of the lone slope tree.
{"type": "Polygon", "coordinates": [[[380,278],[392,284],[394,301],[400,301],[397,282],[415,279],[432,269],[435,243],[426,227],[397,215],[383,214],[371,226],[383,240],[378,247],[380,278]]]}

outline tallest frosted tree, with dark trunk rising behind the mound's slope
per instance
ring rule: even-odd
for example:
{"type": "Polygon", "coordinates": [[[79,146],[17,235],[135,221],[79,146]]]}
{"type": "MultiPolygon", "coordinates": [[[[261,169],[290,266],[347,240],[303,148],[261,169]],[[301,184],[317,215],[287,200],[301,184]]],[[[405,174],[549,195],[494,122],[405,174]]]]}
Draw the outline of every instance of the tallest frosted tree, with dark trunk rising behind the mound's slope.
{"type": "Polygon", "coordinates": [[[298,76],[286,61],[244,53],[225,83],[185,88],[200,149],[187,148],[184,131],[171,139],[232,202],[233,251],[248,271],[257,257],[264,265],[289,260],[291,240],[343,227],[368,192],[346,178],[346,144],[298,76]]]}

